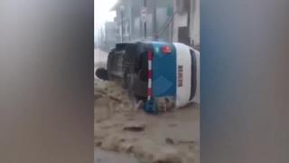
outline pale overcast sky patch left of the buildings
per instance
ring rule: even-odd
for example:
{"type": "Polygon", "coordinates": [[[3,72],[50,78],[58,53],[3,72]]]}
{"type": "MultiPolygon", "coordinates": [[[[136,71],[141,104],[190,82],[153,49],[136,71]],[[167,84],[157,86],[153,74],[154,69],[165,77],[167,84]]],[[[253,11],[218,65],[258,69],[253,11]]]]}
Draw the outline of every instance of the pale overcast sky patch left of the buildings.
{"type": "Polygon", "coordinates": [[[107,21],[113,21],[115,12],[109,10],[117,3],[117,0],[94,0],[94,31],[98,34],[98,29],[107,21]]]}

